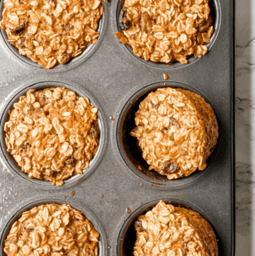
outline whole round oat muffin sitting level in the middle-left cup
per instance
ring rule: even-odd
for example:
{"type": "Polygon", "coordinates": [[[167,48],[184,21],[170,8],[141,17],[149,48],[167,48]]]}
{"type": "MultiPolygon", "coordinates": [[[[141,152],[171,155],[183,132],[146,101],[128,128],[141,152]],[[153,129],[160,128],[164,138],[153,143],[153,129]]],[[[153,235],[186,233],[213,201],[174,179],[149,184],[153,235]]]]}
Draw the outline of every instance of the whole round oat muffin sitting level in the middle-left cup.
{"type": "Polygon", "coordinates": [[[61,186],[82,174],[98,150],[98,109],[64,87],[30,89],[4,125],[7,151],[30,179],[61,186]]]}

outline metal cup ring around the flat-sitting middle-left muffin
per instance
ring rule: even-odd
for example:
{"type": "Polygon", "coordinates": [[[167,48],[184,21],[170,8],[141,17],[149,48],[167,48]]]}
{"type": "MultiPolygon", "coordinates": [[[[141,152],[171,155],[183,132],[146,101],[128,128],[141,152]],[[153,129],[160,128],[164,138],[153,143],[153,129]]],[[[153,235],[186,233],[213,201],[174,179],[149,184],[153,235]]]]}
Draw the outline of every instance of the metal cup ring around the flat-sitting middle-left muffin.
{"type": "Polygon", "coordinates": [[[40,185],[45,185],[48,188],[51,186],[52,189],[60,189],[61,187],[67,187],[68,185],[74,184],[74,182],[79,182],[83,179],[86,179],[86,177],[89,177],[89,174],[94,171],[96,168],[96,165],[100,161],[101,155],[103,154],[103,150],[105,149],[105,144],[106,144],[106,139],[105,139],[105,134],[106,134],[106,121],[103,116],[103,111],[101,106],[99,106],[98,102],[95,101],[94,97],[91,96],[86,90],[84,89],[79,89],[77,85],[69,83],[69,82],[58,82],[58,81],[47,81],[47,82],[37,82],[30,84],[26,86],[25,88],[21,91],[18,92],[13,98],[8,102],[6,107],[4,108],[4,113],[1,116],[1,121],[0,121],[0,129],[2,131],[1,136],[0,136],[0,143],[1,143],[1,150],[3,152],[4,160],[7,163],[8,167],[10,167],[16,174],[20,175],[24,179],[28,180],[29,182],[33,182],[35,184],[40,184],[40,185]],[[51,182],[46,182],[45,180],[40,180],[40,179],[29,179],[28,174],[21,172],[21,167],[18,166],[18,163],[14,160],[13,156],[6,151],[6,143],[5,143],[5,135],[6,133],[4,132],[4,123],[8,121],[9,115],[8,111],[13,108],[13,104],[18,101],[20,96],[26,95],[26,92],[28,89],[35,89],[35,90],[40,90],[40,89],[45,89],[47,87],[65,87],[67,89],[70,89],[71,91],[75,91],[78,96],[84,96],[87,97],[91,103],[92,106],[96,106],[98,108],[98,128],[100,131],[100,138],[99,138],[99,146],[98,150],[96,152],[96,155],[92,158],[92,160],[89,162],[89,167],[87,169],[84,169],[83,174],[75,174],[72,177],[69,177],[68,179],[64,180],[64,185],[57,187],[57,186],[52,186],[51,182]]]}

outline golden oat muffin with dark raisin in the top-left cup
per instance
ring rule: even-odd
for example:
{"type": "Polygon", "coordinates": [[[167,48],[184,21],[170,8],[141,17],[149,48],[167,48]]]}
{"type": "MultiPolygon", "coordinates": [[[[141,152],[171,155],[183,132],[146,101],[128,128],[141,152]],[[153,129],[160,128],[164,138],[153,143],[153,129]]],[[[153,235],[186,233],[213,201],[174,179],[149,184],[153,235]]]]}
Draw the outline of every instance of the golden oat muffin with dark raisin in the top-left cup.
{"type": "Polygon", "coordinates": [[[96,43],[102,15],[101,0],[4,0],[1,28],[20,55],[51,69],[96,43]]]}

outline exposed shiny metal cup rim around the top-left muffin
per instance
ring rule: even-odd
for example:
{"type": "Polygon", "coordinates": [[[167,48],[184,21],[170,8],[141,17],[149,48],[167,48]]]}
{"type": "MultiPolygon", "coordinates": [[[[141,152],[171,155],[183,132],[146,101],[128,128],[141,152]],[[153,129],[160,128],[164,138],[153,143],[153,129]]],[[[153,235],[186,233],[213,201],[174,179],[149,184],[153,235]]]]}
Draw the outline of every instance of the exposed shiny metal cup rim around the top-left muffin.
{"type": "MultiPolygon", "coordinates": [[[[103,4],[104,7],[106,4],[103,4]]],[[[4,0],[1,0],[0,3],[0,21],[1,21],[1,16],[2,16],[2,11],[4,9],[4,0]]],[[[49,69],[48,72],[64,72],[67,69],[70,69],[72,67],[76,67],[77,65],[80,64],[80,62],[84,62],[87,60],[91,55],[93,55],[94,51],[99,47],[101,43],[101,39],[103,37],[103,33],[105,33],[105,28],[106,28],[106,22],[108,20],[107,17],[107,12],[103,13],[103,16],[98,22],[98,32],[100,33],[98,37],[98,41],[96,42],[95,45],[91,44],[88,45],[88,47],[81,53],[81,55],[72,58],[69,62],[67,62],[66,65],[57,65],[54,69],[49,69]]],[[[8,37],[5,33],[4,30],[0,28],[0,40],[1,40],[1,46],[3,46],[6,51],[10,54],[10,56],[13,56],[18,62],[21,63],[21,65],[28,65],[28,67],[35,67],[35,68],[40,68],[41,65],[39,65],[37,62],[33,62],[33,60],[30,60],[28,57],[19,55],[18,49],[11,45],[11,43],[8,43],[7,41],[8,37]]]]}

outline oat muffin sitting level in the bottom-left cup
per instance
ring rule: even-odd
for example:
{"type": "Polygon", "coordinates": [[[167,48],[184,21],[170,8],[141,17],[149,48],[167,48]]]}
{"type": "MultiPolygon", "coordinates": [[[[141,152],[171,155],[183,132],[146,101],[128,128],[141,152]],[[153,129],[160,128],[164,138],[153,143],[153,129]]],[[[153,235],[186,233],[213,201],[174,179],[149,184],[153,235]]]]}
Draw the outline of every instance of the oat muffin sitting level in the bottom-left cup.
{"type": "Polygon", "coordinates": [[[94,226],[68,204],[42,204],[22,213],[4,242],[7,256],[97,256],[94,226]]]}

